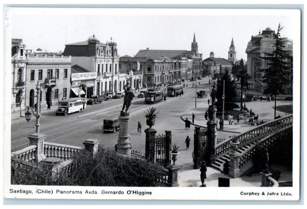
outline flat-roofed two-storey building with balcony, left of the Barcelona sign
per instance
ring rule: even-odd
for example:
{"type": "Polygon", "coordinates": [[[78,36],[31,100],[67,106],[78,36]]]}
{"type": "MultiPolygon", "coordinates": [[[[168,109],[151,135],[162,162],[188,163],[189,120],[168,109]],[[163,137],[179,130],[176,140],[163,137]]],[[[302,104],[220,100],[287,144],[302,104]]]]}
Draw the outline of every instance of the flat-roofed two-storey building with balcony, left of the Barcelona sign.
{"type": "Polygon", "coordinates": [[[68,98],[70,92],[71,57],[59,53],[26,51],[26,105],[34,107],[36,103],[36,85],[41,87],[41,105],[57,105],[62,98],[68,98]]]}

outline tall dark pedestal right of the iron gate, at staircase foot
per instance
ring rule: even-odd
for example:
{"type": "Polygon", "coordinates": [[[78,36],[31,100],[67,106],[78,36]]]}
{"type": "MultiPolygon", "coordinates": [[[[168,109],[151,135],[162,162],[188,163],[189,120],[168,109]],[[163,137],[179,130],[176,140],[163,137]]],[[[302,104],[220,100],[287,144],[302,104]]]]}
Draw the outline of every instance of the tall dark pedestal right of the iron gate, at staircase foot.
{"type": "Polygon", "coordinates": [[[207,129],[208,129],[208,135],[207,135],[207,156],[206,156],[206,164],[208,166],[211,166],[215,160],[215,154],[214,154],[214,146],[216,142],[217,137],[217,131],[216,131],[216,106],[210,105],[208,108],[208,122],[207,122],[207,129]]]}

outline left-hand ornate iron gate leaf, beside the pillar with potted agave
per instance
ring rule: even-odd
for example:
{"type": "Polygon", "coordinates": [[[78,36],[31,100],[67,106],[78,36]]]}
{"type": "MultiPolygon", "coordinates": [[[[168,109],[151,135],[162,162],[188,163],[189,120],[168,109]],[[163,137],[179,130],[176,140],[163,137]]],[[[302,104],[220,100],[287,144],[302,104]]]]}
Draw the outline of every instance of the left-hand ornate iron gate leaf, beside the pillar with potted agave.
{"type": "Polygon", "coordinates": [[[170,149],[172,143],[171,131],[165,131],[165,135],[156,136],[156,163],[162,167],[170,165],[170,149]]]}

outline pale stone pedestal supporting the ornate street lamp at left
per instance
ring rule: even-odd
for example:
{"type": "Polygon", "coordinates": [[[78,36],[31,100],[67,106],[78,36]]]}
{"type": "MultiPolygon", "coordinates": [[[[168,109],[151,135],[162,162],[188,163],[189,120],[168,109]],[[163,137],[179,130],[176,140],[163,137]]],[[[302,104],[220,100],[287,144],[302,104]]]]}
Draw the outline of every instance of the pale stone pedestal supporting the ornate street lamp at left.
{"type": "Polygon", "coordinates": [[[35,162],[41,162],[46,159],[44,155],[44,140],[47,135],[35,133],[27,136],[30,141],[30,145],[36,145],[36,150],[34,152],[35,162]]]}

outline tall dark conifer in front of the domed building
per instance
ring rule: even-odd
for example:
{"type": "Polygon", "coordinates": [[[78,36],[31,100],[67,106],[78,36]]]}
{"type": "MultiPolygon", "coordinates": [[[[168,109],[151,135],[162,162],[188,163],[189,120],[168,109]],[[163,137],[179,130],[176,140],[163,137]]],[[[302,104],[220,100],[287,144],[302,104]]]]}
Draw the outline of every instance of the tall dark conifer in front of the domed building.
{"type": "Polygon", "coordinates": [[[284,93],[284,85],[288,82],[288,74],[290,66],[286,62],[286,59],[289,57],[288,52],[284,50],[285,48],[283,38],[280,37],[280,31],[283,27],[278,25],[277,33],[274,35],[275,43],[273,47],[274,51],[271,53],[264,53],[264,59],[267,62],[268,68],[264,69],[265,75],[262,77],[263,82],[266,83],[266,89],[263,93],[269,94],[270,96],[274,95],[275,97],[275,106],[274,106],[274,119],[276,117],[276,95],[279,93],[284,93]]]}

